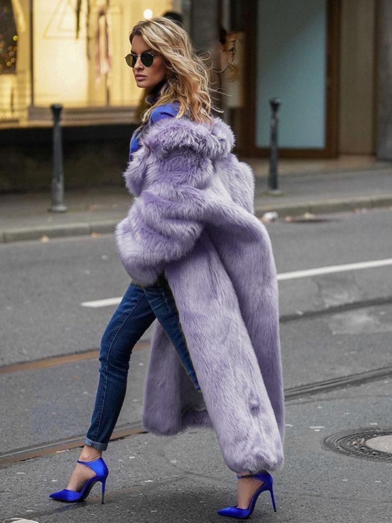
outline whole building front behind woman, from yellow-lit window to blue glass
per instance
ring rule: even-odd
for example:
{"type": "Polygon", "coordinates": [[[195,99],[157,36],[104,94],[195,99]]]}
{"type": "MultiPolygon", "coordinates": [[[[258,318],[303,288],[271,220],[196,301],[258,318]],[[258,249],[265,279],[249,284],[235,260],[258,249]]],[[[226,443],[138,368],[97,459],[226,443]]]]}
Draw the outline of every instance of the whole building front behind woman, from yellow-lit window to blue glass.
{"type": "Polygon", "coordinates": [[[48,186],[54,103],[64,107],[65,170],[68,163],[80,172],[77,159],[94,151],[96,167],[109,173],[98,168],[92,180],[84,166],[66,184],[122,183],[142,94],[124,60],[129,32],[168,10],[181,14],[197,51],[224,69],[215,79],[228,96],[215,105],[234,127],[240,155],[268,155],[269,101],[278,98],[281,156],[392,160],[389,0],[0,0],[0,190],[23,190],[27,180],[48,186]],[[222,31],[235,41],[234,82],[222,31]]]}

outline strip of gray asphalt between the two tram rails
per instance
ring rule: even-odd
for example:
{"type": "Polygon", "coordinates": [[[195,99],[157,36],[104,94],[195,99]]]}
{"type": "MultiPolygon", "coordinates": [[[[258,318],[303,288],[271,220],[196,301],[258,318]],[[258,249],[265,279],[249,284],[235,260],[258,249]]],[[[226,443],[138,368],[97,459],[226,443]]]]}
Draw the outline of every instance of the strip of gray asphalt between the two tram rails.
{"type": "MultiPolygon", "coordinates": [[[[285,389],[390,368],[391,333],[392,304],[281,322],[285,389]]],[[[118,427],[142,419],[149,354],[150,348],[145,346],[131,355],[118,427]]],[[[0,406],[0,452],[85,433],[93,412],[98,371],[97,356],[1,375],[0,396],[7,401],[0,406]]]]}

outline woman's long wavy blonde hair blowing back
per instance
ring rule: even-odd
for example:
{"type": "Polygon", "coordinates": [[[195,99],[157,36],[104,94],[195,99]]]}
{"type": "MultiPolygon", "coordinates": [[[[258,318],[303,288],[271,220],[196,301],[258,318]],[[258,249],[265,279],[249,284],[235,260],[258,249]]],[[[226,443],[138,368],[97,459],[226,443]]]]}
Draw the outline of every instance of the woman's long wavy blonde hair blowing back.
{"type": "Polygon", "coordinates": [[[137,22],[129,36],[131,44],[136,35],[163,56],[167,67],[167,82],[160,90],[157,103],[143,112],[142,124],[155,107],[175,100],[180,104],[178,118],[187,115],[199,123],[212,123],[211,110],[223,112],[212,103],[211,93],[218,92],[210,83],[209,72],[213,66],[208,67],[205,64],[208,58],[195,52],[185,29],[170,18],[156,16],[137,22]]]}

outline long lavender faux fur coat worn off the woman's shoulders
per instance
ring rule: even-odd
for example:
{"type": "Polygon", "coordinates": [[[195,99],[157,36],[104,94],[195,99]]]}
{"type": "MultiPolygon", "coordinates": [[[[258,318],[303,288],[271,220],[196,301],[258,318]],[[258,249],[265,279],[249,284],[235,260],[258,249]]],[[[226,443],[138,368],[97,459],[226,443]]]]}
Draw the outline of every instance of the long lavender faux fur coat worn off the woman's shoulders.
{"type": "Polygon", "coordinates": [[[186,117],[155,123],[124,173],[135,196],[116,228],[120,259],[147,286],[165,271],[202,396],[156,322],[143,425],[156,435],[216,431],[236,472],[283,465],[284,399],[276,269],[254,215],[254,177],[233,131],[186,117]]]}

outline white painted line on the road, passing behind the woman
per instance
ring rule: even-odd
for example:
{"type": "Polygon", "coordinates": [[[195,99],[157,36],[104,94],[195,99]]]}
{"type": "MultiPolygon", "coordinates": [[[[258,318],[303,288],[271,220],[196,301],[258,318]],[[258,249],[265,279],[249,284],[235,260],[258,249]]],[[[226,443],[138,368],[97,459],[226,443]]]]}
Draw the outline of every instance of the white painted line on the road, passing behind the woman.
{"type": "MultiPolygon", "coordinates": [[[[325,267],[317,267],[315,269],[295,270],[293,272],[281,272],[280,274],[278,274],[278,281],[294,280],[297,278],[308,278],[309,276],[331,274],[331,272],[344,272],[347,270],[385,267],[387,265],[392,265],[392,258],[386,258],[384,260],[359,261],[358,263],[348,263],[343,265],[327,265],[325,267]]],[[[84,301],[80,305],[82,305],[82,307],[92,308],[107,307],[109,305],[118,305],[121,300],[122,297],[120,296],[119,298],[107,298],[105,300],[84,301]]]]}

